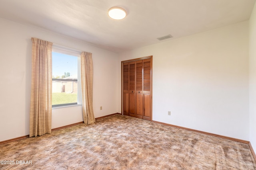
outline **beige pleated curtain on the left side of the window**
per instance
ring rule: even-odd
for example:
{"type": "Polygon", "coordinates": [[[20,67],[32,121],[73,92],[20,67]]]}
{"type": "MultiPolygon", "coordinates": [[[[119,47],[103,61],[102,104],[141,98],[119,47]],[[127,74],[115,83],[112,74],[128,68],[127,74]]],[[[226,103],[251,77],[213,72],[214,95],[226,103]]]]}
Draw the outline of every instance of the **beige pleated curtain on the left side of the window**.
{"type": "Polygon", "coordinates": [[[32,40],[32,80],[29,137],[51,133],[52,43],[32,40]]]}

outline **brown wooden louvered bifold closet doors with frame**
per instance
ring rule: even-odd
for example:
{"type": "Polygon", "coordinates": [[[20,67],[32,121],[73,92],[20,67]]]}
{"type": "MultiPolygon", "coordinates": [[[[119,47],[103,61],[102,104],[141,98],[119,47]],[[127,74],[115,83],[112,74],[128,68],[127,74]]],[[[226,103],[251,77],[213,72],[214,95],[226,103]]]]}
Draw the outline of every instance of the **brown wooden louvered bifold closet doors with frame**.
{"type": "Polygon", "coordinates": [[[152,121],[152,56],[122,61],[122,113],[152,121]]]}

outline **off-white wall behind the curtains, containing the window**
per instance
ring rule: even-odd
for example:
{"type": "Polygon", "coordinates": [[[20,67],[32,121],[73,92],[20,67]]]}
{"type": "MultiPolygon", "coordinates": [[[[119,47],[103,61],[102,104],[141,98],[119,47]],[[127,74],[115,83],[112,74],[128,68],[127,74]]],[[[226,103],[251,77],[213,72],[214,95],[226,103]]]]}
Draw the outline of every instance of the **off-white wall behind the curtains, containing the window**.
{"type": "MultiPolygon", "coordinates": [[[[91,52],[94,64],[95,117],[118,111],[116,53],[2,18],[0,25],[0,141],[29,134],[31,37],[91,52]]],[[[83,121],[81,106],[54,108],[52,111],[52,128],[80,121],[83,121]]]]}

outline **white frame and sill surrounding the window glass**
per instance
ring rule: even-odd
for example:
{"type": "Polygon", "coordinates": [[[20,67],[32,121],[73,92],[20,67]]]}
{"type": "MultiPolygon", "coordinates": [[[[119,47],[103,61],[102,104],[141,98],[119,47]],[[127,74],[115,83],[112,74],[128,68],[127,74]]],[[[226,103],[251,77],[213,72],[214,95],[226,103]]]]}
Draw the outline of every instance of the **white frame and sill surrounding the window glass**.
{"type": "Polygon", "coordinates": [[[72,49],[70,47],[65,47],[58,44],[52,45],[52,52],[62,53],[66,55],[72,55],[77,57],[77,104],[60,104],[60,105],[53,105],[52,108],[58,107],[70,107],[70,106],[77,106],[82,105],[82,88],[81,88],[81,53],[82,51],[77,49],[72,49]]]}

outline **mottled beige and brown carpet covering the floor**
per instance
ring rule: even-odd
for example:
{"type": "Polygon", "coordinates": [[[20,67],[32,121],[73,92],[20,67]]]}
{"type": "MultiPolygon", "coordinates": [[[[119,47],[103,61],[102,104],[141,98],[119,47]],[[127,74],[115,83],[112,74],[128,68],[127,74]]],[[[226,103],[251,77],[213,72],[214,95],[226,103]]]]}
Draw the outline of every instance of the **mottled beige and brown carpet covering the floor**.
{"type": "Polygon", "coordinates": [[[1,170],[256,170],[247,144],[122,115],[0,145],[0,160],[1,170]]]}

